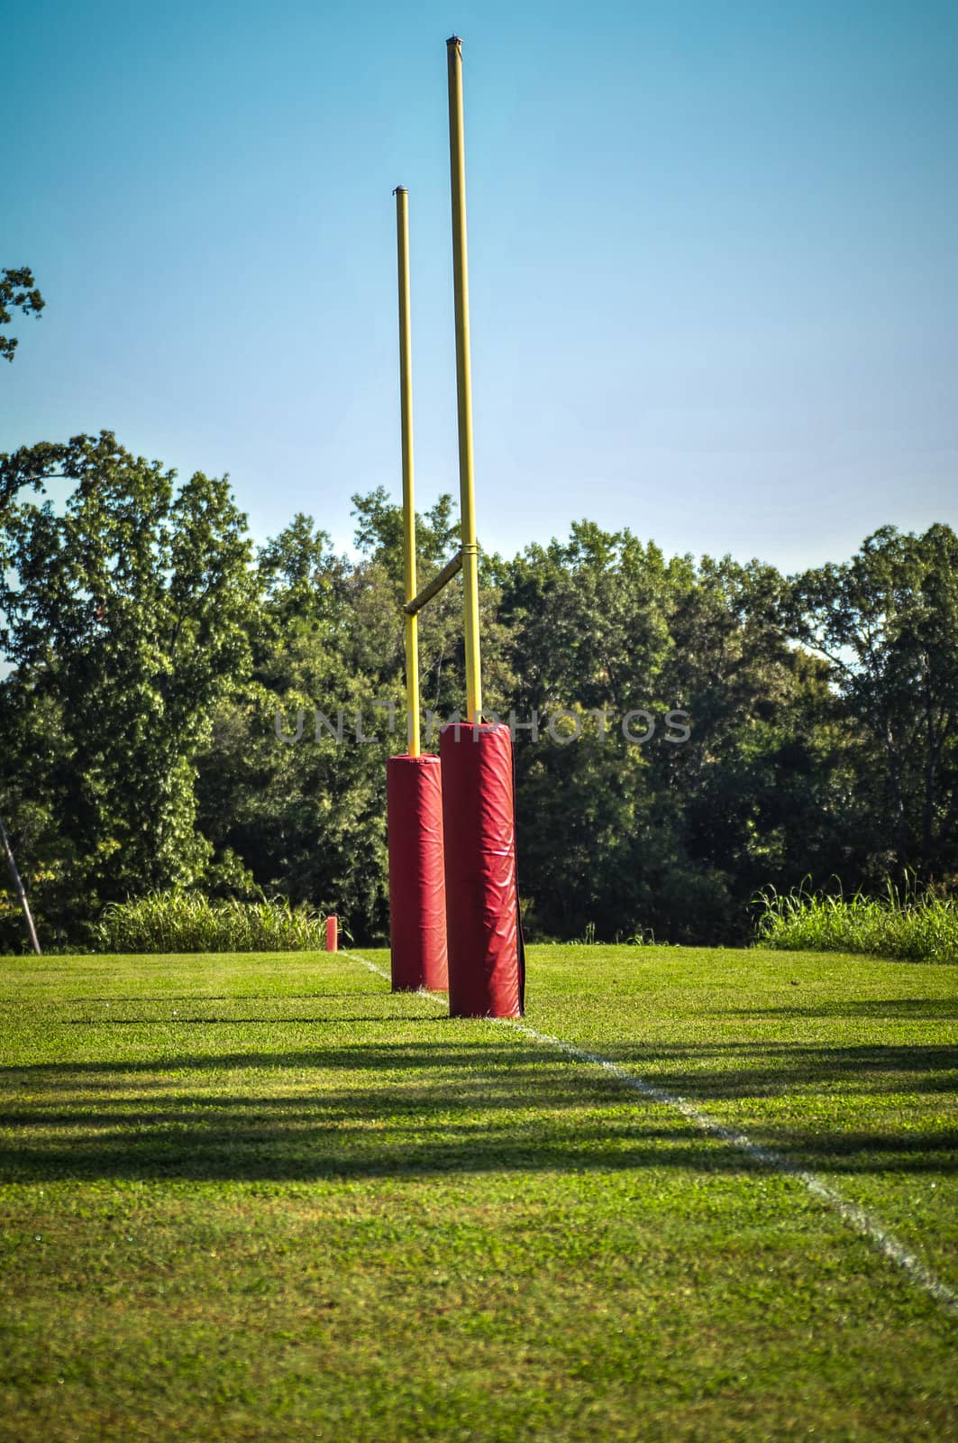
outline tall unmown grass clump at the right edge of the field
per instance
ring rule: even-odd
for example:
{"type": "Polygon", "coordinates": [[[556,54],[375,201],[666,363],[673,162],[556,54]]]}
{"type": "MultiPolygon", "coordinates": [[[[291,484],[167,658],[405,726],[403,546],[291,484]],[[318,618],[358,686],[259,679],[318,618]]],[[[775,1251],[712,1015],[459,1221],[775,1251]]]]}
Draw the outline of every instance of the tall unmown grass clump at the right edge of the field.
{"type": "Polygon", "coordinates": [[[958,899],[922,890],[912,876],[883,898],[812,892],[759,892],[755,939],[760,947],[809,952],[867,952],[906,962],[958,962],[958,899]]]}

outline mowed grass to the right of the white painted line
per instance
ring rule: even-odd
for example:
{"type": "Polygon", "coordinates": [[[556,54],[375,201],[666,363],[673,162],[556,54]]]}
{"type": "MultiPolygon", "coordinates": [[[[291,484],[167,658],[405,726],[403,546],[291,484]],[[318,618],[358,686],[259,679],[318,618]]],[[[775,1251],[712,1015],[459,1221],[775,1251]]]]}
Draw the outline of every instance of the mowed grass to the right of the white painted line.
{"type": "Polygon", "coordinates": [[[548,988],[532,988],[534,1026],[824,1177],[958,1291],[958,967],[558,952],[548,988]]]}

